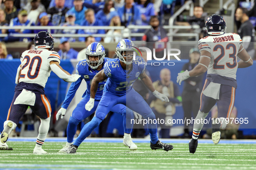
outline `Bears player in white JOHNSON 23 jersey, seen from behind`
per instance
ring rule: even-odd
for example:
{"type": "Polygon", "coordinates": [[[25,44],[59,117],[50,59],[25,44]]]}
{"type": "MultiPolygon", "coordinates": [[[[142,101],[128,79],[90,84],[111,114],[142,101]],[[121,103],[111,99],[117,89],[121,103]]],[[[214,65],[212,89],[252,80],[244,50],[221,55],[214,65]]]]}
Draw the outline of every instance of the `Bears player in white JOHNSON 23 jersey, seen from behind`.
{"type": "Polygon", "coordinates": [[[191,76],[199,76],[207,71],[204,88],[201,93],[201,106],[195,118],[192,139],[189,142],[189,151],[194,153],[198,146],[198,135],[204,125],[203,120],[217,103],[218,120],[212,124],[212,140],[214,144],[220,141],[220,129],[227,126],[226,118],[230,118],[233,110],[235,91],[237,88],[237,68],[253,65],[252,57],[243,48],[242,40],[235,33],[226,33],[226,22],[222,16],[211,15],[205,28],[210,36],[198,41],[201,52],[199,64],[191,71],[178,73],[177,82],[191,76]],[[241,59],[237,62],[237,56],[241,59]],[[197,123],[197,120],[198,123],[197,123]]]}

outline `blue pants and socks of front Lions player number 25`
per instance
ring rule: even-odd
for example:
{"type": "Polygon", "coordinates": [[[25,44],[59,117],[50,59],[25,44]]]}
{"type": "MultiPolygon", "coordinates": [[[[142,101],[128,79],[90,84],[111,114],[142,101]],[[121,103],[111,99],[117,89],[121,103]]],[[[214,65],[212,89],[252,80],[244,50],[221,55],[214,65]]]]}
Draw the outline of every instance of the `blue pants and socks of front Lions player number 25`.
{"type": "MultiPolygon", "coordinates": [[[[97,107],[94,118],[91,120],[91,122],[87,123],[83,127],[80,135],[75,140],[74,145],[79,146],[84,141],[84,139],[91,134],[93,129],[99,126],[100,122],[104,120],[105,116],[111,110],[111,108],[117,104],[126,105],[131,110],[141,114],[144,119],[156,119],[156,116],[152,112],[149,105],[146,103],[143,97],[139,95],[139,93],[137,93],[133,88],[131,91],[129,91],[128,93],[126,93],[126,95],[123,96],[117,96],[114,94],[104,92],[100,100],[100,103],[97,107]]],[[[126,116],[128,119],[133,119],[133,112],[127,112],[126,116]]],[[[151,142],[153,144],[156,144],[156,142],[158,141],[157,125],[153,123],[148,123],[147,127],[149,130],[151,142]]]]}

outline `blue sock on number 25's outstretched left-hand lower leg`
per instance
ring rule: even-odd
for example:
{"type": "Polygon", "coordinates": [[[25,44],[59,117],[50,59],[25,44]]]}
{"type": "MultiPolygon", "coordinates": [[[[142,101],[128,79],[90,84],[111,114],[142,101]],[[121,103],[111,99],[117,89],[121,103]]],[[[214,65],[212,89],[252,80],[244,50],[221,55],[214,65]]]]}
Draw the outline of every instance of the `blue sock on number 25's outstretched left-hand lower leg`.
{"type": "Polygon", "coordinates": [[[73,145],[79,146],[84,141],[84,139],[87,138],[87,136],[89,136],[97,126],[99,126],[101,122],[102,120],[100,118],[94,116],[91,122],[88,122],[86,125],[84,125],[83,129],[78,135],[78,138],[75,139],[73,145]]]}

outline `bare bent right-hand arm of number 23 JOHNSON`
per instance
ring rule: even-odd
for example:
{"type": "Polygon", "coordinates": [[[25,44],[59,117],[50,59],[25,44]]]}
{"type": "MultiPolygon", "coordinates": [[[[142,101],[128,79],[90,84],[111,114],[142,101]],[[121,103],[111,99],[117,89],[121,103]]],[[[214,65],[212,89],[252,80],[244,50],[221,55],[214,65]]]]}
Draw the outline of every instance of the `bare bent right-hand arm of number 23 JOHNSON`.
{"type": "Polygon", "coordinates": [[[252,57],[247,53],[242,45],[240,46],[237,56],[241,59],[238,62],[238,68],[246,68],[253,65],[252,57]]]}

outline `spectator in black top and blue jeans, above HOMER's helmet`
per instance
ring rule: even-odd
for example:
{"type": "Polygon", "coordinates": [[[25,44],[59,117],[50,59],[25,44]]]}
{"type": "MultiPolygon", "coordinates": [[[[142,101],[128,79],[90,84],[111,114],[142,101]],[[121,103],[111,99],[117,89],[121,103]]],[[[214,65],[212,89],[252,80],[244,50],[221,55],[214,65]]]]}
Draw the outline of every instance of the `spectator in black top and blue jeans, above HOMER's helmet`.
{"type": "Polygon", "coordinates": [[[64,6],[65,0],[55,0],[56,5],[47,10],[47,13],[51,16],[52,25],[60,25],[65,22],[65,13],[68,12],[68,8],[64,6]]]}

